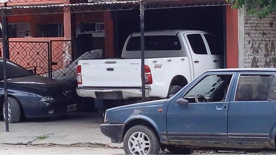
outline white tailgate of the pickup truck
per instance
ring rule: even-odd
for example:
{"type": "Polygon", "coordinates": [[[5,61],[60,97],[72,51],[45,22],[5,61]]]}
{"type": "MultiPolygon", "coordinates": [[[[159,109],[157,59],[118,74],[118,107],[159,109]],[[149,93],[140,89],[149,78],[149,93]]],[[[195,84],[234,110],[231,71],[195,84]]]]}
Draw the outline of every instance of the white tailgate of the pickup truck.
{"type": "Polygon", "coordinates": [[[140,59],[79,60],[83,87],[141,87],[140,59]]]}

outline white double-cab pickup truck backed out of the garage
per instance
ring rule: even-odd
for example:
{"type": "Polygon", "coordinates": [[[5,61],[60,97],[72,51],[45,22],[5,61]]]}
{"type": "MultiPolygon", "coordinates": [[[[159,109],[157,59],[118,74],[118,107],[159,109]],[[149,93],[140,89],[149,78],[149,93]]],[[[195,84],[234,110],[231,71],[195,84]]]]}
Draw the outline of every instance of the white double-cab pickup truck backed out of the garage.
{"type": "MultiPolygon", "coordinates": [[[[140,33],[128,36],[121,58],[79,60],[77,93],[95,99],[141,98],[140,33]]],[[[166,98],[205,70],[223,68],[223,42],[198,30],[145,32],[145,96],[166,98]]]]}

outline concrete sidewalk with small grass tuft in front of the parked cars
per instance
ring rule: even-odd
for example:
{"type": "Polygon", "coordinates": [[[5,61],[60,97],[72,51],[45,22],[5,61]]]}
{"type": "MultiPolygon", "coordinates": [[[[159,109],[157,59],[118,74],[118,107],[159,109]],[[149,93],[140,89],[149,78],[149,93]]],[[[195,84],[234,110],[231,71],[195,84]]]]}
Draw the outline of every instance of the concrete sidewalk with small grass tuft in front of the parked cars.
{"type": "Polygon", "coordinates": [[[10,132],[5,132],[5,123],[0,122],[0,144],[106,144],[122,147],[110,142],[110,138],[100,132],[103,118],[97,114],[74,113],[65,119],[36,119],[9,124],[10,132]],[[44,136],[48,135],[48,136],[44,136]]]}

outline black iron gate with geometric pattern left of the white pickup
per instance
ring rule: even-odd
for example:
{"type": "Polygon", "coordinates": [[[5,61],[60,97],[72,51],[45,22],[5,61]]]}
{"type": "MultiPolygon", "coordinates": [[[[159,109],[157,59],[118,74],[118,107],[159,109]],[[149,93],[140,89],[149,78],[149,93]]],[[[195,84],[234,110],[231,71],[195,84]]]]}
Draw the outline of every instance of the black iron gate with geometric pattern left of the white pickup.
{"type": "MultiPolygon", "coordinates": [[[[0,57],[3,46],[0,43],[0,57]]],[[[75,83],[75,68],[79,59],[102,58],[102,50],[78,51],[72,40],[9,41],[12,62],[36,75],[75,83]],[[81,53],[81,56],[76,55],[81,53]]]]}

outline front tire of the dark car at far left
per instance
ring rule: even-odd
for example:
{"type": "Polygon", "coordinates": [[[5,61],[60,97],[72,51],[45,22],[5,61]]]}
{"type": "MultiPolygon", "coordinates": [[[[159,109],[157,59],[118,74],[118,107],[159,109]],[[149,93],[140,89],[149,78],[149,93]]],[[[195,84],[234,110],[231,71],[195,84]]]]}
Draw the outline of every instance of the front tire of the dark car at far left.
{"type": "MultiPolygon", "coordinates": [[[[2,116],[3,116],[3,120],[4,122],[6,122],[5,120],[5,116],[4,116],[4,101],[2,103],[2,116]]],[[[18,101],[12,97],[8,97],[8,107],[10,107],[9,112],[10,113],[10,119],[9,119],[9,123],[18,123],[20,121],[20,117],[21,117],[21,108],[20,108],[20,104],[18,103],[18,101]]]]}

